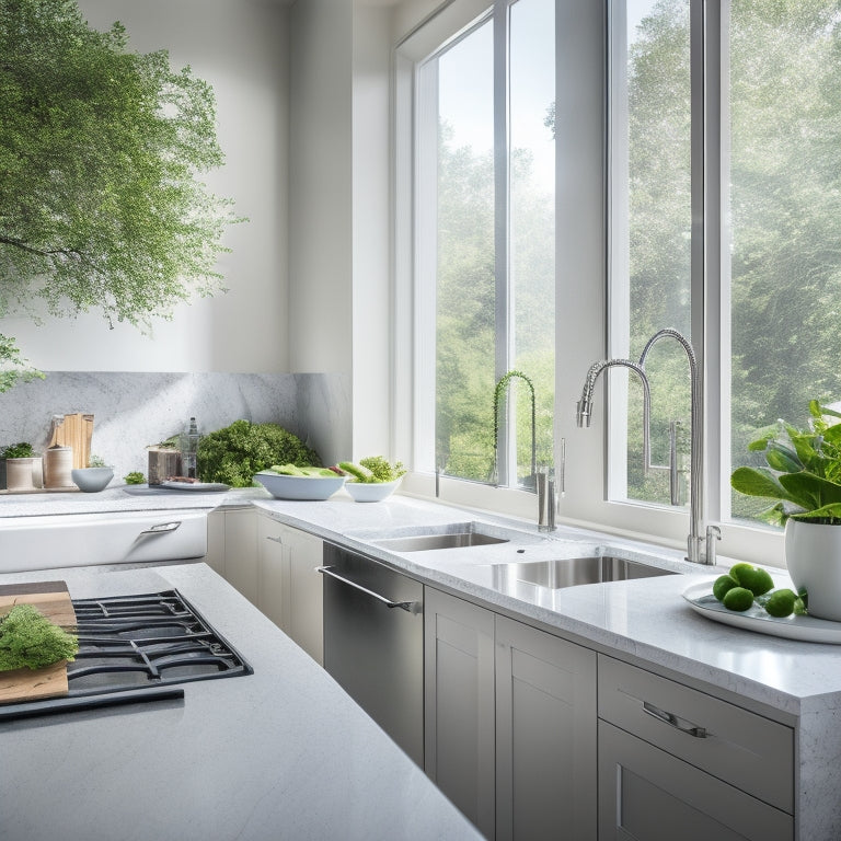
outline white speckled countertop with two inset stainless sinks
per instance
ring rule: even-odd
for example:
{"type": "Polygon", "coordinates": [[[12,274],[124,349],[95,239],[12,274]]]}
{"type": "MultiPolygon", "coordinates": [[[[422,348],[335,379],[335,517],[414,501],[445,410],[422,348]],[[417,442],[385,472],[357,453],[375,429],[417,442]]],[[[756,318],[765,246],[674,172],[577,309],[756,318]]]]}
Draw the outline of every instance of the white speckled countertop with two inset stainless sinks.
{"type": "MultiPolygon", "coordinates": [[[[402,496],[369,505],[338,495],[324,503],[261,499],[254,505],[290,526],[387,561],[430,586],[584,644],[640,658],[792,715],[841,710],[841,646],[729,627],[689,607],[683,591],[700,581],[708,581],[712,588],[731,563],[726,560],[718,567],[699,567],[683,561],[677,551],[578,529],[560,528],[546,538],[533,523],[522,522],[507,523],[525,529],[521,541],[394,553],[371,541],[387,533],[419,533],[441,525],[502,521],[402,496]],[[557,590],[523,587],[516,596],[493,587],[494,564],[586,554],[643,560],[680,575],[557,590]]],[[[771,572],[777,586],[791,586],[783,571],[771,572]]]]}

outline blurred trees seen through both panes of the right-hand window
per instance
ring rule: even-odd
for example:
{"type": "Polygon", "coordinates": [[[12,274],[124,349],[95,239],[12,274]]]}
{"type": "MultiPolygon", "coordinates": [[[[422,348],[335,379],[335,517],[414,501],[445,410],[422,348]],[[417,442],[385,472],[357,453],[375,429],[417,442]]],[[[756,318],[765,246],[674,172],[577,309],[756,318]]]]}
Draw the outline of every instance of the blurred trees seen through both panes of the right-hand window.
{"type": "MultiPolygon", "coordinates": [[[[758,430],[841,400],[841,1],[706,8],[719,20],[704,43],[696,0],[609,3],[610,355],[638,359],[661,327],[705,352],[710,516],[738,520],[764,507],[729,489],[758,430]]],[[[652,461],[668,463],[678,422],[686,471],[686,357],[661,342],[646,369],[652,461]]],[[[611,499],[668,505],[668,472],[643,470],[642,389],[624,375],[609,461],[611,499]]]]}

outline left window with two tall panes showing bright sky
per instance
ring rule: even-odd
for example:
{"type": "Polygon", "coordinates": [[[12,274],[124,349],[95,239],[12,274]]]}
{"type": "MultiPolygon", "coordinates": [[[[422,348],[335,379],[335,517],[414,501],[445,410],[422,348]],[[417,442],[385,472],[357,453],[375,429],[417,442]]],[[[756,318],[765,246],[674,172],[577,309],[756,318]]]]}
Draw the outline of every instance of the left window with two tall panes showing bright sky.
{"type": "Polygon", "coordinates": [[[553,0],[489,5],[418,62],[417,435],[448,476],[533,487],[532,388],[553,463],[554,79],[553,0]]]}

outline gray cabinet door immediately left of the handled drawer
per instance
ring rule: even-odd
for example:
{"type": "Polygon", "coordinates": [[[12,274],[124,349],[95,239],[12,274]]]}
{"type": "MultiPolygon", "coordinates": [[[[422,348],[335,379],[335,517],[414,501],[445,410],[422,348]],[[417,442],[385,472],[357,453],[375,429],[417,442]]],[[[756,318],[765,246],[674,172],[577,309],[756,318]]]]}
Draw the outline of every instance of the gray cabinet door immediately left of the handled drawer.
{"type": "Polygon", "coordinates": [[[596,838],[596,654],[496,618],[496,837],[596,838]]]}

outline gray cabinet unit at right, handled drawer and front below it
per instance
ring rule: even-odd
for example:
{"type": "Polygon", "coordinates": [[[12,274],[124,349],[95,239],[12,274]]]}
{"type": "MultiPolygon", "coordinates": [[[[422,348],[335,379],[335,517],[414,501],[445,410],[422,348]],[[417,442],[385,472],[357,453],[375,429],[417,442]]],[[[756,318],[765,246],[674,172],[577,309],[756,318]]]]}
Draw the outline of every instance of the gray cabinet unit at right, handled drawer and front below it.
{"type": "Polygon", "coordinates": [[[599,656],[600,841],[792,841],[793,730],[599,656]]]}

